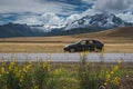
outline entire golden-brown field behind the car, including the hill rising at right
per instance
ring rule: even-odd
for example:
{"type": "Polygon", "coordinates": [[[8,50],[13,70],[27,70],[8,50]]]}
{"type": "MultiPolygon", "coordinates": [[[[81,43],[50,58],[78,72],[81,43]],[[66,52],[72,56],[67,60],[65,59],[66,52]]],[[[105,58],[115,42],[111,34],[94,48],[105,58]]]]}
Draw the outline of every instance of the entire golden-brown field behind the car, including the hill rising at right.
{"type": "Polygon", "coordinates": [[[131,27],[73,36],[3,38],[0,39],[0,52],[63,52],[65,44],[82,39],[103,41],[105,52],[133,52],[133,30],[131,27]]]}

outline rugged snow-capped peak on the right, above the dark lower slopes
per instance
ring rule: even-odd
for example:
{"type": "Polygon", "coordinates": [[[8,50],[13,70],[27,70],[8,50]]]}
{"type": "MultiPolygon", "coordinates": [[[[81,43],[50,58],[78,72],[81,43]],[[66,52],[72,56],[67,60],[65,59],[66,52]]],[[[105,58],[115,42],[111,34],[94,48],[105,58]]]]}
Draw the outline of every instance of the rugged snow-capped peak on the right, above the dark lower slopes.
{"type": "Polygon", "coordinates": [[[95,28],[95,29],[110,29],[116,27],[130,26],[123,21],[121,18],[112,13],[99,13],[94,16],[84,16],[81,19],[66,23],[65,30],[76,29],[76,28],[95,28]]]}

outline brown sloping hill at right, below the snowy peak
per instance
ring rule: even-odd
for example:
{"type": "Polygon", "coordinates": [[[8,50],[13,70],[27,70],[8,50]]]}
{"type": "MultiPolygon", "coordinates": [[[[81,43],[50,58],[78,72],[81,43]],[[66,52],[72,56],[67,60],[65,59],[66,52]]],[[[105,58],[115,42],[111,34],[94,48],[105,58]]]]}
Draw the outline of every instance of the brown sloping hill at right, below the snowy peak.
{"type": "Polygon", "coordinates": [[[73,37],[78,37],[78,38],[82,38],[82,37],[85,37],[85,38],[90,38],[90,37],[133,38],[133,27],[122,27],[122,28],[109,29],[109,30],[92,32],[92,33],[81,33],[81,34],[75,34],[73,37]]]}

